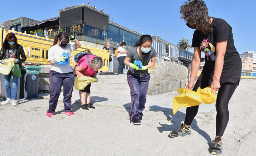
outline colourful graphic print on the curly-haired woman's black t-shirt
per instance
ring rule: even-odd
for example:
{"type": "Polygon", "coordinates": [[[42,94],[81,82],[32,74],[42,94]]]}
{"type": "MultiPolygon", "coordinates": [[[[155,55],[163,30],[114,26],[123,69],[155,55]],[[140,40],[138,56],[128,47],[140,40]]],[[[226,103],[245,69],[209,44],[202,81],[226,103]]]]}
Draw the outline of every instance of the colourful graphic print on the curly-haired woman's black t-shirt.
{"type": "Polygon", "coordinates": [[[215,53],[215,47],[208,42],[208,39],[205,39],[202,41],[200,49],[202,52],[205,53],[206,59],[208,61],[214,61],[216,59],[216,53],[215,53]]]}

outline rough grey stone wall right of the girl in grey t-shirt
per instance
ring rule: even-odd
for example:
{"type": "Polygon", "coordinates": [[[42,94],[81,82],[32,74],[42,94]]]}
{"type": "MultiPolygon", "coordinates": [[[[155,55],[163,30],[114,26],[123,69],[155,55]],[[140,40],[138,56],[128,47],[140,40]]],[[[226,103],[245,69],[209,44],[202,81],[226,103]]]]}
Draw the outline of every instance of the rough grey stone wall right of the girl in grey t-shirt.
{"type": "Polygon", "coordinates": [[[167,61],[161,62],[150,70],[147,94],[155,95],[175,91],[185,87],[187,82],[187,67],[167,61]]]}

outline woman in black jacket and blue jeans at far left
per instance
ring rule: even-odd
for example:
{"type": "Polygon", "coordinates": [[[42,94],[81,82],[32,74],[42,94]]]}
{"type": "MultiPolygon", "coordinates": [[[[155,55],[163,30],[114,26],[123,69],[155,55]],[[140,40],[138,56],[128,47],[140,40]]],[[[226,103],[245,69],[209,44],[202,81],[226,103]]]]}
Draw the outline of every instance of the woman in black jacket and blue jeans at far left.
{"type": "MultiPolygon", "coordinates": [[[[3,41],[1,53],[0,53],[0,63],[6,64],[4,62],[4,59],[8,59],[8,58],[14,58],[14,63],[18,63],[20,68],[22,67],[22,62],[25,62],[27,59],[22,46],[17,43],[17,38],[14,33],[8,33],[3,41]]],[[[13,75],[11,72],[8,75],[4,75],[7,98],[1,104],[11,103],[12,105],[17,105],[16,96],[18,92],[18,78],[19,77],[13,75]],[[11,76],[13,76],[13,82],[12,82],[13,96],[12,97],[11,97],[11,87],[10,87],[11,76]]]]}

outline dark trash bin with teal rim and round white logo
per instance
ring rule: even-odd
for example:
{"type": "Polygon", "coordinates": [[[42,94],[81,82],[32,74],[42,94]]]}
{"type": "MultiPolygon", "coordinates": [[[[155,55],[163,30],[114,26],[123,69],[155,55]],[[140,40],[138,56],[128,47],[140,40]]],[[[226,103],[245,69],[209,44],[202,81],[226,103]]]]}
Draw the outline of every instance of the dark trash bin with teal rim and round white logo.
{"type": "Polygon", "coordinates": [[[21,98],[37,98],[40,66],[23,66],[21,70],[21,98]]]}

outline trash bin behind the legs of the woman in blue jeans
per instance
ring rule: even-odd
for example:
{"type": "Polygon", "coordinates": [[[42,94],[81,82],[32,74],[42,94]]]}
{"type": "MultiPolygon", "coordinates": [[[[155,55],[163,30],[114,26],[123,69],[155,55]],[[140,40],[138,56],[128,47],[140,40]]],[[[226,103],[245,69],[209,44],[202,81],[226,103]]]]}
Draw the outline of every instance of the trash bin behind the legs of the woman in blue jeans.
{"type": "MultiPolygon", "coordinates": [[[[0,79],[1,79],[1,94],[2,94],[3,100],[6,100],[7,93],[6,93],[6,89],[5,89],[4,74],[0,73],[0,79]]],[[[18,92],[17,92],[16,100],[20,99],[20,81],[21,81],[21,77],[19,77],[19,80],[18,80],[18,92]]],[[[11,82],[10,82],[10,84],[11,84],[11,96],[13,96],[12,83],[13,83],[13,77],[11,77],[11,82]]]]}

